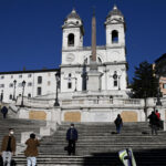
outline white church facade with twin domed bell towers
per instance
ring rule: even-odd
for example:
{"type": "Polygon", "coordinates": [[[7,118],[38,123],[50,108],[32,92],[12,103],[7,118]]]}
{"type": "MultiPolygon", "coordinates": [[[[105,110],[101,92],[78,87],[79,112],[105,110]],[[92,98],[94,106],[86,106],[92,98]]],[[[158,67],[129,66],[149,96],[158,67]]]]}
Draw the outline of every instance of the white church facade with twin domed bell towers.
{"type": "MultiPolygon", "coordinates": [[[[105,45],[96,46],[96,63],[101,72],[98,91],[113,94],[127,89],[125,20],[116,6],[104,24],[105,45]]],[[[61,92],[89,91],[85,73],[90,71],[92,46],[83,46],[83,21],[74,9],[66,17],[62,30],[61,92]]]]}

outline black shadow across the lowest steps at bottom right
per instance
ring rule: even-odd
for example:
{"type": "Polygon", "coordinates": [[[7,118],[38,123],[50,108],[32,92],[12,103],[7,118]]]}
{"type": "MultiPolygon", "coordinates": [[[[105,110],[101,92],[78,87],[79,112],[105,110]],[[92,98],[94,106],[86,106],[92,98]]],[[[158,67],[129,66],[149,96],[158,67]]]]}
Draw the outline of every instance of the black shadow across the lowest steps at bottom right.
{"type": "MultiPolygon", "coordinates": [[[[133,152],[136,166],[166,166],[166,148],[133,152]]],[[[83,166],[123,166],[117,153],[96,153],[84,157],[83,166]]]]}

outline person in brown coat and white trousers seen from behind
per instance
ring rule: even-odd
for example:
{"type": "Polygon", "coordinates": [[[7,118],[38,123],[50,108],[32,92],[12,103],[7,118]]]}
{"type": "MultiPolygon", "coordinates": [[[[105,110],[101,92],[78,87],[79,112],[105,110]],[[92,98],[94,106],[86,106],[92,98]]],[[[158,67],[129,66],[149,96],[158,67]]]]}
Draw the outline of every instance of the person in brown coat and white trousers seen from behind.
{"type": "Polygon", "coordinates": [[[37,165],[37,156],[38,156],[38,146],[40,146],[39,141],[35,138],[35,134],[30,134],[30,138],[25,142],[27,149],[24,151],[24,155],[27,157],[27,166],[35,166],[37,165]]]}

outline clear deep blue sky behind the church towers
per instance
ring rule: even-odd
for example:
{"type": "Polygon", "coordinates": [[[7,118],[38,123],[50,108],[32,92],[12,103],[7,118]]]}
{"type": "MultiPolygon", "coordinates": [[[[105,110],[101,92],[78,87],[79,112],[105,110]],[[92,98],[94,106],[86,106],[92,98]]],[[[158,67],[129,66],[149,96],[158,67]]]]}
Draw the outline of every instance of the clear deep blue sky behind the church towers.
{"type": "Polygon", "coordinates": [[[105,44],[104,21],[116,3],[126,20],[128,77],[134,66],[166,53],[166,0],[0,0],[0,72],[61,64],[62,29],[73,6],[84,22],[84,45],[91,44],[92,7],[96,9],[97,44],[105,44]],[[75,2],[74,2],[75,1],[75,2]]]}

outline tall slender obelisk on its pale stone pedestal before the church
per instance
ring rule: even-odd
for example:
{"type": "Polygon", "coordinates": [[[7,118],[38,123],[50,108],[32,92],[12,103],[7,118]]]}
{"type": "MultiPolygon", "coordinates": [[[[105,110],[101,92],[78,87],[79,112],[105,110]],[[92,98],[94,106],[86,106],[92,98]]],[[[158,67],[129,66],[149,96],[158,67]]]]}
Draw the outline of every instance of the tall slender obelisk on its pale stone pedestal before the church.
{"type": "Polygon", "coordinates": [[[90,71],[87,72],[87,91],[101,91],[102,73],[97,71],[96,62],[96,20],[95,12],[92,17],[92,55],[90,60],[90,71]]]}

